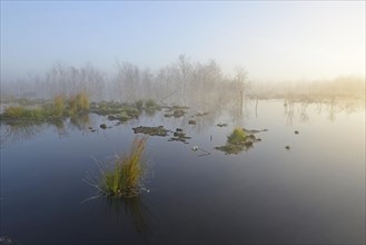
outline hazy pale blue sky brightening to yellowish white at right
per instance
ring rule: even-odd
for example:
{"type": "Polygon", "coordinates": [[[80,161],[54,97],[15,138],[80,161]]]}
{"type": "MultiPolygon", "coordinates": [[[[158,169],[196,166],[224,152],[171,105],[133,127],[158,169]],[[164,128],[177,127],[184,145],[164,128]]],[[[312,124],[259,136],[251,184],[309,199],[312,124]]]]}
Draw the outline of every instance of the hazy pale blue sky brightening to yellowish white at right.
{"type": "Polygon", "coordinates": [[[156,70],[186,55],[251,80],[365,77],[365,1],[2,1],[1,80],[56,62],[156,70]]]}

